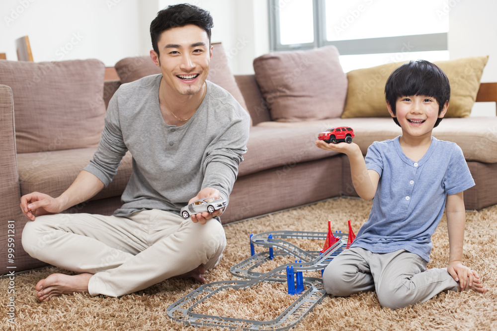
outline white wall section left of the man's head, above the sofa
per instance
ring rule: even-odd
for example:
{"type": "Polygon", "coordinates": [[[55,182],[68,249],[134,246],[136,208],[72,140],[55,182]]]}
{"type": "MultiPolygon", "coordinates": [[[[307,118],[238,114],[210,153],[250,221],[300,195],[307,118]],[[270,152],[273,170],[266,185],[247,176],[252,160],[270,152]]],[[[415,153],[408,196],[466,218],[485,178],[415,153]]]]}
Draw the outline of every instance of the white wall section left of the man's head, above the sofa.
{"type": "Polygon", "coordinates": [[[0,53],[17,61],[15,39],[27,35],[35,62],[95,58],[114,66],[138,55],[140,7],[138,0],[2,0],[0,53]]]}

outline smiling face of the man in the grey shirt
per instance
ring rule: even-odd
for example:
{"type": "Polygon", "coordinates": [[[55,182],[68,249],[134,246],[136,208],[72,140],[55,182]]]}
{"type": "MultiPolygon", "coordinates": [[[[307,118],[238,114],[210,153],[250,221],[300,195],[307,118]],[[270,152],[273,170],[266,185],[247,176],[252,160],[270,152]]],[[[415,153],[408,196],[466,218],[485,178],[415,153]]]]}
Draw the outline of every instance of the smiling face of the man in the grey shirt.
{"type": "Polygon", "coordinates": [[[196,25],[168,29],[161,34],[157,53],[150,51],[152,61],[161,68],[166,93],[194,95],[209,73],[212,47],[207,32],[196,25]]]}

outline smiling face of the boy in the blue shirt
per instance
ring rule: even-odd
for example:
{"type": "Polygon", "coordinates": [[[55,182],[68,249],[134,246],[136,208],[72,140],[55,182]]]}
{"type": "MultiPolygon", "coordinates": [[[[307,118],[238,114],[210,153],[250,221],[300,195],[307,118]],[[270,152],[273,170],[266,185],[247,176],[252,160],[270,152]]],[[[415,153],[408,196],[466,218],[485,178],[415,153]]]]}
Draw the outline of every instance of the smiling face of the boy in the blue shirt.
{"type": "Polygon", "coordinates": [[[397,117],[403,134],[413,137],[430,135],[438,118],[447,112],[449,103],[446,102],[442,112],[438,114],[439,105],[434,97],[426,95],[410,95],[397,98],[395,103],[396,114],[387,103],[388,111],[392,117],[397,117]]]}

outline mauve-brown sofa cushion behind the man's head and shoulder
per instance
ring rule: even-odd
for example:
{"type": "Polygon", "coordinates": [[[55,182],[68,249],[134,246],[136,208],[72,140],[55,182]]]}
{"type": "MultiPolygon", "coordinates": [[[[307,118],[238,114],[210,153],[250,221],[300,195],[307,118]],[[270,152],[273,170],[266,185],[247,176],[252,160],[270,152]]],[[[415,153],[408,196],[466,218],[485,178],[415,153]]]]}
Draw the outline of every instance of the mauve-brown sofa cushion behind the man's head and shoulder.
{"type": "MultiPolygon", "coordinates": [[[[214,43],[212,46],[212,58],[207,80],[230,92],[240,105],[247,110],[242,92],[228,66],[228,58],[224,52],[223,45],[214,43]]],[[[115,68],[122,83],[129,83],[145,76],[161,73],[161,69],[152,62],[150,56],[122,59],[116,63],[115,68]]]]}

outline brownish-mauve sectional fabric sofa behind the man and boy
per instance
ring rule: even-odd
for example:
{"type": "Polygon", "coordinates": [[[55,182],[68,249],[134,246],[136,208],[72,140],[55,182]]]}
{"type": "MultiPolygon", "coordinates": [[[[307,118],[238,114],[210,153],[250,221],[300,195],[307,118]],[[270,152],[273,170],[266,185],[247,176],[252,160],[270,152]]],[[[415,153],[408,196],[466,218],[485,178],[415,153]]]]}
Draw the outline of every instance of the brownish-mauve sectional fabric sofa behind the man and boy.
{"type": "MultiPolygon", "coordinates": [[[[230,91],[251,117],[248,152],[240,165],[230,204],[221,216],[223,224],[322,199],[355,196],[347,158],[314,146],[317,134],[328,127],[352,127],[356,134],[354,142],[363,153],[373,141],[400,134],[400,128],[388,117],[342,118],[341,113],[351,102],[353,79],[343,72],[341,77],[345,80],[340,86],[345,84],[347,89],[348,80],[349,90],[346,101],[343,99],[333,105],[334,111],[339,112],[337,116],[325,114],[319,118],[315,114],[304,114],[297,120],[274,119],[275,94],[271,92],[268,97],[267,89],[261,86],[264,82],[261,84],[260,79],[264,78],[258,76],[257,70],[255,75],[232,75],[223,55],[222,45],[214,45],[208,79],[230,91]]],[[[299,56],[309,56],[309,53],[299,56]]],[[[281,63],[291,65],[288,61],[281,63]]],[[[116,70],[121,80],[104,82],[105,68],[96,60],[57,64],[0,60],[0,197],[3,202],[0,223],[5,233],[8,225],[14,224],[10,227],[14,230],[12,236],[0,238],[0,273],[45,265],[22,250],[21,233],[28,220],[20,212],[20,196],[32,191],[60,195],[96,149],[105,107],[115,90],[121,83],[157,73],[157,67],[148,57],[123,59],[116,64],[116,70]],[[8,244],[14,244],[12,253],[8,251],[12,245],[8,244]],[[8,254],[12,254],[12,262],[8,254]]],[[[311,86],[309,88],[313,88],[311,86]]],[[[497,99],[497,84],[482,84],[480,90],[483,92],[478,98],[475,92],[477,101],[497,99]]],[[[283,86],[278,96],[285,93],[289,90],[283,86]]],[[[292,102],[285,107],[291,107],[292,102]]],[[[292,116],[301,116],[300,113],[305,110],[292,116]]],[[[457,142],[463,149],[476,182],[476,186],[465,193],[468,209],[497,203],[496,128],[495,116],[446,118],[433,132],[440,139],[457,142]]],[[[107,188],[66,212],[111,214],[120,206],[120,195],[131,173],[131,157],[125,156],[107,188]]]]}

